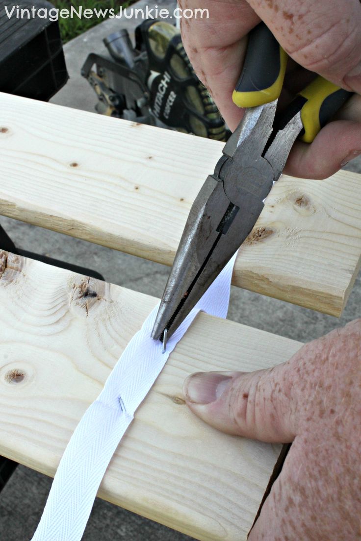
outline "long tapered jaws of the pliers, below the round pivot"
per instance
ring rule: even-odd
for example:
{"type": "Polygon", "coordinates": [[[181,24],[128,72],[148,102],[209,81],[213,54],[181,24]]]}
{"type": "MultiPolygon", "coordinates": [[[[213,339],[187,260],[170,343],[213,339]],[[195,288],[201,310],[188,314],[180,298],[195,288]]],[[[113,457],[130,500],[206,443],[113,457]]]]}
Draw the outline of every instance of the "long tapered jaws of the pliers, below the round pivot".
{"type": "Polygon", "coordinates": [[[196,197],[170,272],[152,338],[168,338],[251,232],[263,203],[234,206],[223,182],[209,175],[196,197]]]}

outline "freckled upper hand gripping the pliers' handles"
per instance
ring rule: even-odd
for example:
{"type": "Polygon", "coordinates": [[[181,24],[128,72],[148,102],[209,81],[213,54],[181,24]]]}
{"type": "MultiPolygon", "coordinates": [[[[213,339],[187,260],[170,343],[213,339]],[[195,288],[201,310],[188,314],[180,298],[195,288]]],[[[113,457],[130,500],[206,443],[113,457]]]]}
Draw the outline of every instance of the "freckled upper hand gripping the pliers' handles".
{"type": "MultiPolygon", "coordinates": [[[[209,10],[209,19],[181,19],[182,41],[231,130],[242,116],[232,102],[232,92],[240,76],[246,36],[260,20],[303,68],[361,94],[359,0],[180,0],[180,5],[209,10]]],[[[294,95],[309,75],[293,63],[285,88],[294,95]]],[[[321,179],[361,154],[361,97],[353,96],[337,118],[321,129],[312,144],[294,144],[285,173],[321,179]]]]}

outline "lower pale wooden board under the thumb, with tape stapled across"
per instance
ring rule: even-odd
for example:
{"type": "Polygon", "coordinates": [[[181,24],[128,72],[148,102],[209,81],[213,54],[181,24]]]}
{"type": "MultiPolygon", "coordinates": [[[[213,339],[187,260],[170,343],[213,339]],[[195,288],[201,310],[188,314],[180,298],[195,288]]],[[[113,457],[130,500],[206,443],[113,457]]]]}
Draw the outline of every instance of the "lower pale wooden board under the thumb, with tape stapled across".
{"type": "MultiPolygon", "coordinates": [[[[0,252],[0,454],[53,476],[156,299],[6,256],[0,252]]],[[[201,313],[137,410],[99,496],[198,539],[245,540],[280,447],[202,423],[185,405],[182,383],[194,371],[273,366],[299,347],[201,313]]]]}

